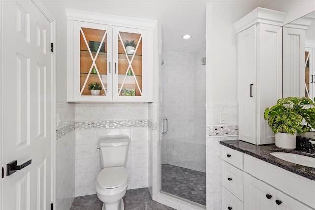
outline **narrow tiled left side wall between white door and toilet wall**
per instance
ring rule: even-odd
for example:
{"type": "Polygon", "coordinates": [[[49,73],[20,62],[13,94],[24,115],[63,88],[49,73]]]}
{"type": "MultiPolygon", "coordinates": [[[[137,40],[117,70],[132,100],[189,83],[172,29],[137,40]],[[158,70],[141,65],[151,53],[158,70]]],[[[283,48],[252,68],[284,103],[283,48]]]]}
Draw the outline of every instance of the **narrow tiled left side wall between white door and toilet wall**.
{"type": "Polygon", "coordinates": [[[75,134],[74,126],[68,126],[74,123],[75,105],[57,103],[56,114],[56,122],[60,120],[56,127],[56,209],[66,210],[75,197],[75,134]]]}

